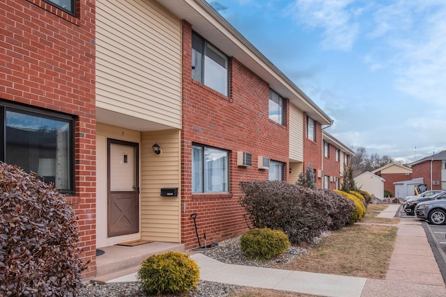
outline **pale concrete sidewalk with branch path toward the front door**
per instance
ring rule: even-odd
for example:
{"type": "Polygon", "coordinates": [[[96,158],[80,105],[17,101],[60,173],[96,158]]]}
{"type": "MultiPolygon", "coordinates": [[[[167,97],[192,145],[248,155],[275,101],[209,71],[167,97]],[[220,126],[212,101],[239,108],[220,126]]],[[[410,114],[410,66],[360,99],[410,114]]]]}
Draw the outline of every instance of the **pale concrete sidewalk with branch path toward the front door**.
{"type": "MultiPolygon", "coordinates": [[[[390,204],[380,217],[393,218],[400,204],[390,204]]],[[[317,296],[445,296],[446,287],[422,223],[401,218],[397,241],[385,280],[307,273],[218,262],[202,254],[192,255],[200,266],[201,280],[275,289],[317,296]]],[[[109,282],[134,282],[136,273],[109,282]]]]}

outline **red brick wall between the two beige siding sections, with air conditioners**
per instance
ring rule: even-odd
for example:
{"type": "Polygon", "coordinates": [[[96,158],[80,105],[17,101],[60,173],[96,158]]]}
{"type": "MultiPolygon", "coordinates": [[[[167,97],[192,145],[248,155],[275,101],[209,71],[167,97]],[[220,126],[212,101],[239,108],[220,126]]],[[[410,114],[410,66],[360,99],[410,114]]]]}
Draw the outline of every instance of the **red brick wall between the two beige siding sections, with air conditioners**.
{"type": "MultiPolygon", "coordinates": [[[[197,228],[204,244],[241,234],[247,230],[240,209],[239,182],[268,180],[268,170],[257,169],[257,156],[286,163],[288,179],[288,114],[282,126],[268,118],[268,83],[230,58],[229,97],[203,86],[191,77],[192,29],[183,22],[183,131],[181,142],[182,242],[198,246],[191,214],[197,213],[197,228]],[[228,150],[229,193],[192,194],[192,143],[228,150]],[[252,154],[252,167],[237,166],[237,152],[252,154]]],[[[288,106],[288,104],[287,104],[288,106]]]]}

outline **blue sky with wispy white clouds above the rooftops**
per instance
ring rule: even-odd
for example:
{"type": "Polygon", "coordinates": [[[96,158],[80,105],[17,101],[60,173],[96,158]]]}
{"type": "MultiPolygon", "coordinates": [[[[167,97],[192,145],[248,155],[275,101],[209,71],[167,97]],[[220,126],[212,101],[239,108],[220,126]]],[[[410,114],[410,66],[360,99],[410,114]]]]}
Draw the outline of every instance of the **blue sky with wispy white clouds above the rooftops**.
{"type": "Polygon", "coordinates": [[[412,162],[446,150],[446,1],[207,1],[353,151],[412,162]]]}

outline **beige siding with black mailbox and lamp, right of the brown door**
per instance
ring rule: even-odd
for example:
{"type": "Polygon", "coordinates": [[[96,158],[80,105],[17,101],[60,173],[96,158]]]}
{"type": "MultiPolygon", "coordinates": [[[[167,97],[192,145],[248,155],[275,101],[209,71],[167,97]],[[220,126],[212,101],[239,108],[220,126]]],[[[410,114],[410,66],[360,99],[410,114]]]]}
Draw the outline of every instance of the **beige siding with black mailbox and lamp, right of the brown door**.
{"type": "Polygon", "coordinates": [[[141,159],[141,236],[180,242],[180,130],[144,132],[141,159]],[[153,153],[154,143],[161,154],[153,153]],[[178,197],[162,197],[161,188],[178,188],[178,197]]]}

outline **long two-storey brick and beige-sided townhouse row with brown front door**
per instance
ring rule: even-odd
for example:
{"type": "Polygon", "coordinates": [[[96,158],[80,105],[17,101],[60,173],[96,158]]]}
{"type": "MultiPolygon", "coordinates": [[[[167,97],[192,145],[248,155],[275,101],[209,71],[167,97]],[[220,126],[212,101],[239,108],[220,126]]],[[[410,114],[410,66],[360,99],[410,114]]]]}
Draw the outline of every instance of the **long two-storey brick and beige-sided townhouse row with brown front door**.
{"type": "Polygon", "coordinates": [[[1,161],[54,182],[97,248],[247,230],[246,180],[339,188],[332,119],[203,0],[6,0],[1,161]],[[63,4],[61,4],[63,3],[63,4]],[[325,176],[328,182],[325,182],[325,176]],[[328,184],[328,186],[327,186],[328,184]]]}

